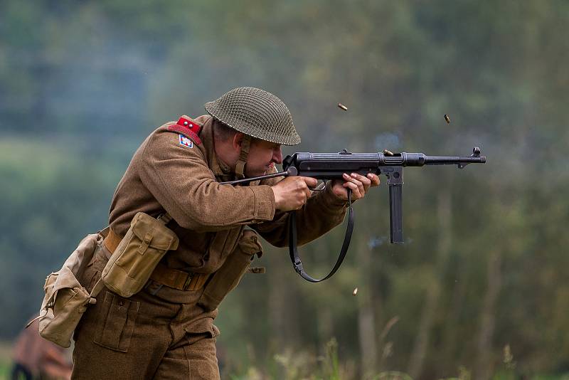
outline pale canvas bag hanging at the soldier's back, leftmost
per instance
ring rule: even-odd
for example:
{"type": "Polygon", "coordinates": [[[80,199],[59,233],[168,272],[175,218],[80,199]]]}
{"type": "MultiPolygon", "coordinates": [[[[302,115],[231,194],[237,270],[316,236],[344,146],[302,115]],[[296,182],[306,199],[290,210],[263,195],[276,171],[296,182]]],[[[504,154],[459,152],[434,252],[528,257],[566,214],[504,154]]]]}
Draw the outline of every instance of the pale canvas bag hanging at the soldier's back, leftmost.
{"type": "Polygon", "coordinates": [[[43,286],[46,295],[36,318],[39,320],[39,333],[61,347],[70,347],[75,327],[87,306],[97,302],[95,297],[102,290],[100,281],[90,293],[78,281],[101,241],[102,236],[98,233],[87,235],[65,260],[63,267],[46,278],[43,286]]]}

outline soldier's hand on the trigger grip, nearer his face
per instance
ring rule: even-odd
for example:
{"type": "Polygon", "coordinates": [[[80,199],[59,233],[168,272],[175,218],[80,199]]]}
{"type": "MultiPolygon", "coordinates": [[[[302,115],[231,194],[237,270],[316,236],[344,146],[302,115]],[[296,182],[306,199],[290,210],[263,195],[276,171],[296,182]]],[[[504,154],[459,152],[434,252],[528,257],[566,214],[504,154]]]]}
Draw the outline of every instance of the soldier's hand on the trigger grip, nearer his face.
{"type": "Polygon", "coordinates": [[[317,183],[317,179],[307,176],[289,176],[271,186],[275,194],[275,208],[280,211],[301,209],[312,194],[309,187],[314,187],[317,183]]]}

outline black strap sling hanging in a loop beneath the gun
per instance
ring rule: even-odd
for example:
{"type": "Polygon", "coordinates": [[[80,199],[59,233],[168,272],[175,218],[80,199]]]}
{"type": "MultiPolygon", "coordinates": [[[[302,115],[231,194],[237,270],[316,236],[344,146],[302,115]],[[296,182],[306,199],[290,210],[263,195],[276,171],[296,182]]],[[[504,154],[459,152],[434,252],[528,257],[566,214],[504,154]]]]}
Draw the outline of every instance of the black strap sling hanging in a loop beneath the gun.
{"type": "Polygon", "coordinates": [[[311,283],[319,283],[320,281],[327,280],[331,278],[336,270],[340,268],[344,258],[346,257],[346,253],[348,252],[348,248],[350,246],[351,241],[351,233],[353,232],[353,208],[351,206],[351,190],[348,189],[348,225],[346,226],[346,235],[344,236],[344,243],[342,243],[342,248],[340,250],[340,254],[338,256],[338,260],[336,260],[336,264],[334,268],[326,275],[326,277],[317,280],[316,278],[312,278],[304,272],[304,268],[302,268],[302,262],[300,260],[300,256],[297,250],[297,214],[292,211],[290,218],[289,218],[289,255],[290,260],[292,261],[292,266],[294,270],[300,275],[300,277],[304,278],[311,283]]]}

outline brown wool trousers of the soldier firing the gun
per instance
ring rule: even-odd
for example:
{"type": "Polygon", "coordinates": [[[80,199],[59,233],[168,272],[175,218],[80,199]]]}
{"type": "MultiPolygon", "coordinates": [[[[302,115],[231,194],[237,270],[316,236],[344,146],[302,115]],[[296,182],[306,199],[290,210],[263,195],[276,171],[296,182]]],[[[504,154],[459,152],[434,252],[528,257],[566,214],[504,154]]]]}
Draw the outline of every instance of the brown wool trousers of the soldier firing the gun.
{"type": "MultiPolygon", "coordinates": [[[[97,247],[81,280],[87,290],[109,257],[97,247]]],[[[217,310],[196,305],[202,291],[161,287],[123,298],[102,290],[75,330],[72,379],[219,379],[217,310]]]]}

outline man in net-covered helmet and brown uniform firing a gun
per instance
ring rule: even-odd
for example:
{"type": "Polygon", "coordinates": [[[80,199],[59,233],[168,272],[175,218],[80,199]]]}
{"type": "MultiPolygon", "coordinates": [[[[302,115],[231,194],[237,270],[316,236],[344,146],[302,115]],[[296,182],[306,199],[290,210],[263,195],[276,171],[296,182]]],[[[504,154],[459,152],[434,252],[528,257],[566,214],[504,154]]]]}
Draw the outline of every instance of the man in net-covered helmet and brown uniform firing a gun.
{"type": "Polygon", "coordinates": [[[221,185],[276,172],[281,145],[300,137],[286,105],[257,88],[235,88],[205,107],[209,115],[152,132],[117,186],[110,230],[83,274],[87,290],[139,211],[171,216],[179,246],[132,297],[99,293],[75,330],[74,379],[218,379],[217,306],[262,253],[245,227],[286,246],[287,211],[297,210],[298,242],[307,243],[344,219],[347,189],[356,200],[379,184],[375,174],[345,174],[314,194],[317,180],[300,176],[221,185]]]}

